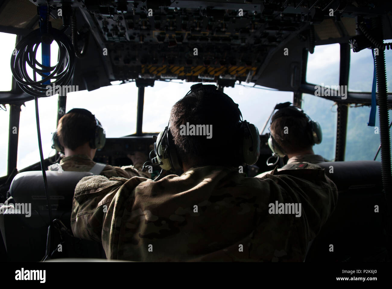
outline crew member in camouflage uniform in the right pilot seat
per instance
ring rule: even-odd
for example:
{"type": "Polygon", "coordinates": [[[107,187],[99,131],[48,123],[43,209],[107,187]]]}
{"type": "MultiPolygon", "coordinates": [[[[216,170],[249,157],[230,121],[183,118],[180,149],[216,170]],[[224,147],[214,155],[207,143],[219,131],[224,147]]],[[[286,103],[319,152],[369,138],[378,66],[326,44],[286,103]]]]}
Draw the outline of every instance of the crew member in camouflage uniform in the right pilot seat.
{"type": "MultiPolygon", "coordinates": [[[[278,171],[295,170],[304,166],[306,168],[320,168],[316,164],[329,161],[321,155],[314,154],[309,118],[305,113],[297,110],[296,106],[278,110],[271,119],[270,131],[274,142],[289,157],[287,164],[279,168],[278,171]]],[[[256,177],[265,176],[270,172],[263,172],[256,177]]]]}

